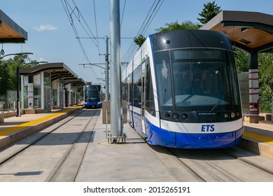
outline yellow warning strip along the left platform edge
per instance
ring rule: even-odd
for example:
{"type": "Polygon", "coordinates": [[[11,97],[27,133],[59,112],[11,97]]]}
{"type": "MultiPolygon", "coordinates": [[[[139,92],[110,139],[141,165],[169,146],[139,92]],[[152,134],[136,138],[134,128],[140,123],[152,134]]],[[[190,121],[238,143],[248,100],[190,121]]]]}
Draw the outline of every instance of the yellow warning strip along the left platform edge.
{"type": "Polygon", "coordinates": [[[15,127],[10,127],[10,128],[8,128],[8,129],[6,129],[6,130],[1,130],[1,131],[0,131],[0,136],[5,136],[5,135],[10,134],[10,133],[12,133],[12,132],[16,132],[16,131],[25,129],[25,127],[30,127],[30,126],[36,125],[36,124],[41,123],[41,122],[43,122],[43,121],[50,120],[50,119],[52,119],[52,118],[55,118],[55,117],[57,117],[57,116],[60,116],[60,115],[62,115],[62,113],[69,113],[70,111],[73,111],[73,110],[76,110],[76,109],[79,109],[79,108],[81,108],[81,106],[76,106],[76,107],[74,107],[74,108],[72,108],[72,109],[62,110],[62,111],[59,111],[59,112],[57,112],[57,113],[53,113],[53,114],[51,114],[51,115],[49,115],[49,116],[45,116],[45,117],[43,117],[43,118],[39,118],[39,119],[36,119],[36,120],[32,120],[32,121],[29,121],[29,122],[27,122],[27,123],[23,123],[23,124],[21,124],[21,125],[17,125],[17,126],[15,126],[15,127]]]}

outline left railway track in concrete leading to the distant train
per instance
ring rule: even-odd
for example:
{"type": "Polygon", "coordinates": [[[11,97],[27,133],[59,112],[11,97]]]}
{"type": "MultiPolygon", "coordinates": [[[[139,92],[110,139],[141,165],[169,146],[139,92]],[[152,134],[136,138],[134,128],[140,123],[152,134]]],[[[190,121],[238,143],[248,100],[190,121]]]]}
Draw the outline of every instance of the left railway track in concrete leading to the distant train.
{"type": "Polygon", "coordinates": [[[0,171],[9,173],[1,172],[0,181],[33,181],[31,176],[35,174],[40,176],[36,181],[73,181],[98,117],[99,110],[84,109],[1,151],[0,171]],[[16,173],[13,165],[19,163],[20,171],[25,172],[16,173]],[[72,167],[67,169],[69,165],[72,167]],[[9,180],[9,174],[15,178],[9,180]],[[2,177],[5,179],[1,180],[2,177]]]}

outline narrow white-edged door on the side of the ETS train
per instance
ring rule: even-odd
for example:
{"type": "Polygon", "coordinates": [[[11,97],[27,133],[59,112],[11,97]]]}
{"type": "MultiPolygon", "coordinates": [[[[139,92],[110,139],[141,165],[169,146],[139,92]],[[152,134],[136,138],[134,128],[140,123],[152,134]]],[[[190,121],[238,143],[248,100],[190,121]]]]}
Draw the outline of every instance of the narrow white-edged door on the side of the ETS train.
{"type": "Polygon", "coordinates": [[[145,63],[142,64],[142,80],[141,80],[141,125],[142,136],[146,137],[146,123],[145,123],[145,109],[146,109],[146,72],[149,64],[149,58],[146,58],[145,63]]]}

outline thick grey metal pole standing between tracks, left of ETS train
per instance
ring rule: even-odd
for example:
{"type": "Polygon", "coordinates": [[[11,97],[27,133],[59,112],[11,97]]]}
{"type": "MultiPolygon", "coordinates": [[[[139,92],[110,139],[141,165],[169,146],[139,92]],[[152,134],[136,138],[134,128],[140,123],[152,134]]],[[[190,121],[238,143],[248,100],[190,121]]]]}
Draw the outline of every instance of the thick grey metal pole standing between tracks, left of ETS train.
{"type": "Polygon", "coordinates": [[[111,135],[123,134],[121,125],[120,97],[120,1],[110,0],[110,41],[111,41],[111,135]]]}

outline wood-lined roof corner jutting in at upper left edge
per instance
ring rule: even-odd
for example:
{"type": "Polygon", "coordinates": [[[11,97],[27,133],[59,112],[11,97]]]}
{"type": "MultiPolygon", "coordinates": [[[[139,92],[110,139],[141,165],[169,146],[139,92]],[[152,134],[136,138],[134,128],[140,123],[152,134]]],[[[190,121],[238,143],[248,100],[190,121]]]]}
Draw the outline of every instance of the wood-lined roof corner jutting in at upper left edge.
{"type": "Polygon", "coordinates": [[[25,43],[27,31],[0,10],[0,43],[25,43]]]}

